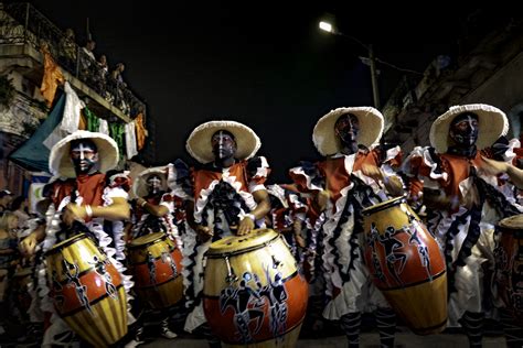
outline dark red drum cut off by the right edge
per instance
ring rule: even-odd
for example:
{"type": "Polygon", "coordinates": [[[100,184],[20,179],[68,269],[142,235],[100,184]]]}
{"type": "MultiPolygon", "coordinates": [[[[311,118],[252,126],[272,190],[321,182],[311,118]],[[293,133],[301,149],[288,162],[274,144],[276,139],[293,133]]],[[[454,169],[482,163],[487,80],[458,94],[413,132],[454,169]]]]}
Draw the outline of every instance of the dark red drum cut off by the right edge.
{"type": "Polygon", "coordinates": [[[495,230],[495,282],[506,308],[523,327],[523,215],[502,219],[495,230]]]}

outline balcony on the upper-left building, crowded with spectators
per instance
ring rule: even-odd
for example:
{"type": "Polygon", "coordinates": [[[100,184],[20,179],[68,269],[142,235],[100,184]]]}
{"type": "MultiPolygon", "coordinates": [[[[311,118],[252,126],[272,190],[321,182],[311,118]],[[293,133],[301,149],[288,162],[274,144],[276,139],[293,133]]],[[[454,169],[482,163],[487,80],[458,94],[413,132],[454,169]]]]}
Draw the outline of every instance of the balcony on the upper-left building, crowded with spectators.
{"type": "Polygon", "coordinates": [[[31,4],[4,4],[3,11],[0,8],[0,73],[15,67],[39,86],[43,77],[40,45],[45,42],[65,78],[97,116],[125,122],[140,112],[146,116],[146,105],[125,84],[106,74],[84,48],[67,42],[66,54],[66,41],[64,32],[31,4]]]}

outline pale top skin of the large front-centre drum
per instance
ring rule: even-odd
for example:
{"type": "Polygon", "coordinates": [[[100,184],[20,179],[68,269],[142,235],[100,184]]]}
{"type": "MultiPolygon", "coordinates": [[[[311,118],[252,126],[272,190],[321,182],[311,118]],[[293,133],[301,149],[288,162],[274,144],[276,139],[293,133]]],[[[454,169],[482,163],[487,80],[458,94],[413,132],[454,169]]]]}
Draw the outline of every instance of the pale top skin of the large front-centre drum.
{"type": "Polygon", "coordinates": [[[231,236],[220,239],[209,247],[207,255],[221,255],[224,253],[241,253],[264,247],[265,243],[279,237],[271,229],[258,229],[246,236],[231,236]]]}

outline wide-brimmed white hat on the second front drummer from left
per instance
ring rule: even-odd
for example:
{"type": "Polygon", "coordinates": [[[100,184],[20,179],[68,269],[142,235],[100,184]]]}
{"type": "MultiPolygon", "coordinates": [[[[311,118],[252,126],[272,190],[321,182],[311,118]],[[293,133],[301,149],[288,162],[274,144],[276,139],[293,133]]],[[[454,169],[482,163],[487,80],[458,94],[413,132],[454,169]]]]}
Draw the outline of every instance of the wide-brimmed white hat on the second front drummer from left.
{"type": "Polygon", "coordinates": [[[262,142],[258,135],[245,124],[236,121],[210,121],[196,127],[189,135],[185,148],[200,163],[214,161],[211,137],[218,130],[231,132],[236,141],[236,160],[247,160],[256,154],[262,142]]]}

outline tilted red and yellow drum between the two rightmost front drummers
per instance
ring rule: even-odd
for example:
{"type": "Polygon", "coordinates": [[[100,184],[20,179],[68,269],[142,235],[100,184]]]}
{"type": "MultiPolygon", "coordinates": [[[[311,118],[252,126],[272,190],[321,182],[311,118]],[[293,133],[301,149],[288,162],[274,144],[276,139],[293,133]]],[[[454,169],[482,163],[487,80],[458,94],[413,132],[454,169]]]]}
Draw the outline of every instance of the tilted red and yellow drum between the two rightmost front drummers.
{"type": "Polygon", "coordinates": [[[397,197],[363,210],[365,263],[374,284],[418,335],[447,324],[447,274],[436,239],[397,197]]]}

